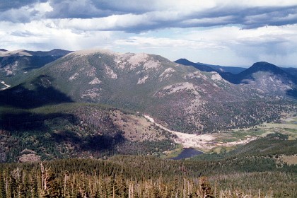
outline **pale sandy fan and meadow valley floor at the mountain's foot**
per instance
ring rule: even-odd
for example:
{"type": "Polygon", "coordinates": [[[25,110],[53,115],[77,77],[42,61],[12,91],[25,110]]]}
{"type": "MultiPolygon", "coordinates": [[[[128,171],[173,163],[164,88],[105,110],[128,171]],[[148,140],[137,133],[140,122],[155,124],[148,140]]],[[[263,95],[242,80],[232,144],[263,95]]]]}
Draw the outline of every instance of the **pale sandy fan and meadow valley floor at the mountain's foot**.
{"type": "Polygon", "coordinates": [[[152,117],[144,115],[150,122],[156,124],[157,127],[164,129],[176,137],[175,143],[182,145],[183,148],[197,148],[205,153],[221,152],[221,149],[231,151],[237,145],[247,144],[258,137],[267,136],[274,132],[280,132],[289,136],[289,140],[297,139],[297,117],[281,120],[281,123],[263,123],[260,126],[247,129],[231,129],[229,132],[212,133],[212,134],[185,134],[174,132],[170,129],[157,124],[152,117]]]}

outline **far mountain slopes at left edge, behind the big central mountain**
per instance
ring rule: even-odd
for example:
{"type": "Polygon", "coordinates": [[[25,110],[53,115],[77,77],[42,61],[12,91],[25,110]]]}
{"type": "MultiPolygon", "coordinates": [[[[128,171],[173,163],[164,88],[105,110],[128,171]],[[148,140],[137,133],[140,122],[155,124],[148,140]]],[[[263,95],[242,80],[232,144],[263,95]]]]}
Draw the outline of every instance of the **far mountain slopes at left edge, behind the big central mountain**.
{"type": "Polygon", "coordinates": [[[51,50],[49,52],[16,50],[0,50],[0,81],[16,85],[28,76],[33,69],[45,66],[71,51],[51,50]]]}

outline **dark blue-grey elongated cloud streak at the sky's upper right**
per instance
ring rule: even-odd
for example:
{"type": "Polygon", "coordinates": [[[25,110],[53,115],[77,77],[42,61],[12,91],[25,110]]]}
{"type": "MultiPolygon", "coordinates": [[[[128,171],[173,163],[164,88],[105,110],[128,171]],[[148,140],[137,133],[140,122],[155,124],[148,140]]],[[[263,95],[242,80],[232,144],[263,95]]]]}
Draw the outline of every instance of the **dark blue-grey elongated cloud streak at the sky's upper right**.
{"type": "Polygon", "coordinates": [[[243,28],[259,28],[265,25],[291,25],[297,23],[297,6],[214,8],[208,11],[192,13],[185,20],[178,23],[189,28],[214,25],[242,25],[243,28]],[[185,23],[187,21],[192,21],[192,23],[185,23]]]}

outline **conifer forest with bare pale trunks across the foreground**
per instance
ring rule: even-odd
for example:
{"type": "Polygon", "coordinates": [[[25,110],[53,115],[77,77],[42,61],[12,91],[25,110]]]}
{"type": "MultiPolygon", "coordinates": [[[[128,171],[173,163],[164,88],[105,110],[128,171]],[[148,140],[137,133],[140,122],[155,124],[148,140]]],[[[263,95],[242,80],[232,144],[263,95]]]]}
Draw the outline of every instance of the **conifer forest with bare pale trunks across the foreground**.
{"type": "Polygon", "coordinates": [[[2,197],[18,194],[29,197],[296,197],[296,178],[296,165],[276,168],[269,158],[200,162],[116,156],[105,160],[0,164],[0,194],[2,197]]]}

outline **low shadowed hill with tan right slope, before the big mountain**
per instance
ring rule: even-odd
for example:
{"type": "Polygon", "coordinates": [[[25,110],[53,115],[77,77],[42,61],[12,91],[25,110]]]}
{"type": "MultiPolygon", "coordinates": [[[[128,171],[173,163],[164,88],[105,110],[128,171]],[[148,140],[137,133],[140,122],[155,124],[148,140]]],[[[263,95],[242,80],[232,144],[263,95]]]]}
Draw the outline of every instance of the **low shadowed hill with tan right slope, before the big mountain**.
{"type": "Polygon", "coordinates": [[[2,162],[120,153],[158,156],[175,148],[171,134],[143,117],[103,105],[62,103],[29,110],[1,107],[0,126],[2,162]]]}

